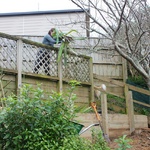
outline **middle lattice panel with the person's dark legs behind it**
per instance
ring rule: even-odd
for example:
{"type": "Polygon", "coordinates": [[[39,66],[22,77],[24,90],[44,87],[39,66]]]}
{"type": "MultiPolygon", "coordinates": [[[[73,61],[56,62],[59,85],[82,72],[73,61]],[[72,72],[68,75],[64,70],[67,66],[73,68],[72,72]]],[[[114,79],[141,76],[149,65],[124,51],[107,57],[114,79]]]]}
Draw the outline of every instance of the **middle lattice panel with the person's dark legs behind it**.
{"type": "Polygon", "coordinates": [[[23,43],[23,71],[58,76],[57,53],[23,43]]]}

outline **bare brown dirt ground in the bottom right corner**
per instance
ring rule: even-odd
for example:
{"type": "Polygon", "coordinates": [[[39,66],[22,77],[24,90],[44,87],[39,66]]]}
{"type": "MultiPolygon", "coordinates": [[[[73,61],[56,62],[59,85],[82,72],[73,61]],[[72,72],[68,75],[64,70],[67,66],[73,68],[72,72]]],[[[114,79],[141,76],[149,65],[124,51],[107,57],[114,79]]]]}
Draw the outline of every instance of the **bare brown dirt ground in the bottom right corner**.
{"type": "MultiPolygon", "coordinates": [[[[128,135],[127,138],[132,140],[130,150],[150,150],[150,128],[141,129],[132,135],[128,135]]],[[[118,143],[111,139],[109,146],[114,150],[118,148],[118,143]]]]}

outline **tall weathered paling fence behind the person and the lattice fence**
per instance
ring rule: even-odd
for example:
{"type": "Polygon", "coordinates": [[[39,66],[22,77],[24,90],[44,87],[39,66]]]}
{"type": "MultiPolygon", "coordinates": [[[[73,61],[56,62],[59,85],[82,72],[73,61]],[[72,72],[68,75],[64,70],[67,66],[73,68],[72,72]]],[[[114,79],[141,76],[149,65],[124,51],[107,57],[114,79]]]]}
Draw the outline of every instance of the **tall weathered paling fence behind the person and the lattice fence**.
{"type": "MultiPolygon", "coordinates": [[[[23,36],[36,42],[42,42],[42,36],[23,36]]],[[[106,39],[83,38],[75,40],[70,46],[78,53],[93,58],[93,73],[125,81],[127,78],[126,60],[114,51],[111,42],[106,39]]]]}

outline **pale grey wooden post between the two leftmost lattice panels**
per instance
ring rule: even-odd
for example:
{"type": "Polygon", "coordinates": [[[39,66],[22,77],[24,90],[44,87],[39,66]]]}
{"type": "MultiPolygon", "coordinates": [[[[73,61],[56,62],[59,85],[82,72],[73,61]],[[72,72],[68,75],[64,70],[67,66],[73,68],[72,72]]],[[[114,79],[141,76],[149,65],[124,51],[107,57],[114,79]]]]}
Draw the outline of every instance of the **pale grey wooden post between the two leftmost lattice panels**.
{"type": "Polygon", "coordinates": [[[17,95],[20,94],[20,88],[22,86],[22,40],[17,40],[17,95]]]}

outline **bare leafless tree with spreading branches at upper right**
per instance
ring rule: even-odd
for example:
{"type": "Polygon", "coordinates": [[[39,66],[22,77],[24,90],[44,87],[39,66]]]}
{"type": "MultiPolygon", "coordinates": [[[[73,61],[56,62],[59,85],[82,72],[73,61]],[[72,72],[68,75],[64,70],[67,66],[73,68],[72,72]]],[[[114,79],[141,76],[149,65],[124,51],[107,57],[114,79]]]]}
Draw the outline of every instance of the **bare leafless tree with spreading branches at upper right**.
{"type": "Polygon", "coordinates": [[[150,8],[146,0],[71,0],[90,18],[89,31],[110,40],[150,89],[150,8]]]}

